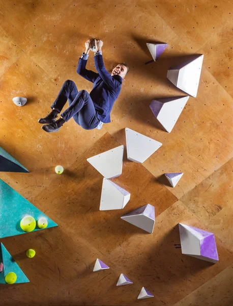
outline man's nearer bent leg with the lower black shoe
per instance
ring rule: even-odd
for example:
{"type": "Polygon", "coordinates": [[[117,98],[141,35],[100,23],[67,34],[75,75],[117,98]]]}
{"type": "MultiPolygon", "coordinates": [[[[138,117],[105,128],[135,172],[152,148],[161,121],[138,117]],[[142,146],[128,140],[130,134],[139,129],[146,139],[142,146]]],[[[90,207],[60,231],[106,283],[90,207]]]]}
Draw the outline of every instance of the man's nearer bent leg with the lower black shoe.
{"type": "Polygon", "coordinates": [[[85,130],[92,130],[99,123],[95,106],[90,94],[85,90],[80,90],[69,108],[62,114],[61,118],[54,123],[43,125],[42,129],[46,132],[56,132],[60,127],[74,116],[78,118],[78,124],[85,130]]]}

